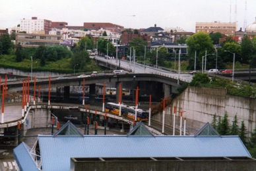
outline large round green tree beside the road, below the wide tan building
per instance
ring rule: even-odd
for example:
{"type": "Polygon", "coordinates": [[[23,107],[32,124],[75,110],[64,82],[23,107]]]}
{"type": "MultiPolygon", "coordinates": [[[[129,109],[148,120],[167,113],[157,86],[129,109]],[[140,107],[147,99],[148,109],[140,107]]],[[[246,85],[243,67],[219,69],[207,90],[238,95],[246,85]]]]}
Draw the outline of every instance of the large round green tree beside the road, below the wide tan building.
{"type": "Polygon", "coordinates": [[[210,39],[210,36],[204,32],[198,32],[197,34],[194,34],[193,36],[188,37],[186,40],[186,44],[188,46],[189,56],[191,57],[189,59],[189,66],[188,66],[189,70],[192,70],[194,68],[195,51],[197,51],[196,68],[201,68],[202,66],[201,57],[205,56],[205,51],[207,51],[207,53],[212,53],[214,49],[212,39],[210,39]]]}

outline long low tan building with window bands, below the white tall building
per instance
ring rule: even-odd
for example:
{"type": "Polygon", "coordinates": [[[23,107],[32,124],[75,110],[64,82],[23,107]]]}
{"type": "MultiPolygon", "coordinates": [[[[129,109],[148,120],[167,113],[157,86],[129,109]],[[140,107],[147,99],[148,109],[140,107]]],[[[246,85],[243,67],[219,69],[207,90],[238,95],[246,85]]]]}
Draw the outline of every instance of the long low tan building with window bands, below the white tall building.
{"type": "Polygon", "coordinates": [[[38,47],[40,45],[59,45],[60,40],[60,35],[18,33],[15,44],[20,44],[22,47],[38,47]]]}

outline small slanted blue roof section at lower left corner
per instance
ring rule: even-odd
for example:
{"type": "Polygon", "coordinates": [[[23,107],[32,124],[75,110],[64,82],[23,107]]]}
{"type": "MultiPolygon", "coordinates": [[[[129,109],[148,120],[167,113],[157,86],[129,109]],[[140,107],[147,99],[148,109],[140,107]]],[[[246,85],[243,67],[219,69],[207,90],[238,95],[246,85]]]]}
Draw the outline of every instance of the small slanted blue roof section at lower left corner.
{"type": "Polygon", "coordinates": [[[13,149],[13,156],[15,157],[20,170],[38,171],[29,151],[30,147],[28,147],[26,143],[20,143],[20,145],[13,149]]]}

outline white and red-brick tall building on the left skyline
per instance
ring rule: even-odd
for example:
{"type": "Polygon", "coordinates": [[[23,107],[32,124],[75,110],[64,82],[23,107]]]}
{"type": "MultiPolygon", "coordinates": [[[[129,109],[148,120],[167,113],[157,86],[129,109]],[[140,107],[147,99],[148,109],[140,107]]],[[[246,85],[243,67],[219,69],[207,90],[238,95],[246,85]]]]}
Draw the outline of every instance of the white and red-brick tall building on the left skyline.
{"type": "Polygon", "coordinates": [[[44,32],[49,34],[51,31],[51,20],[38,19],[33,16],[31,19],[21,19],[20,20],[20,32],[26,32],[27,34],[32,34],[34,32],[44,32]]]}

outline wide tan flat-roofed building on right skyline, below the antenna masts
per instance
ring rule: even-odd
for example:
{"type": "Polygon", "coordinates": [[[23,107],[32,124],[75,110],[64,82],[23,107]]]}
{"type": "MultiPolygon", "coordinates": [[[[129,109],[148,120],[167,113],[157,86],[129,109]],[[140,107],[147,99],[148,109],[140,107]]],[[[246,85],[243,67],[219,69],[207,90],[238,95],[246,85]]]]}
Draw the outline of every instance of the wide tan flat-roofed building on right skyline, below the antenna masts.
{"type": "Polygon", "coordinates": [[[226,36],[235,36],[236,22],[196,22],[195,33],[205,32],[210,34],[211,32],[220,32],[226,36]]]}

